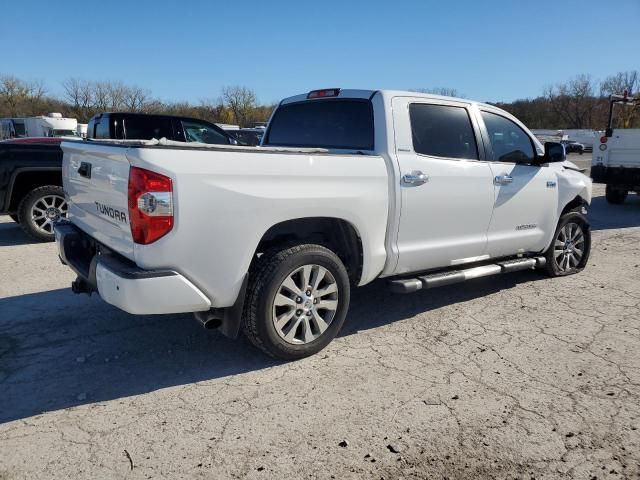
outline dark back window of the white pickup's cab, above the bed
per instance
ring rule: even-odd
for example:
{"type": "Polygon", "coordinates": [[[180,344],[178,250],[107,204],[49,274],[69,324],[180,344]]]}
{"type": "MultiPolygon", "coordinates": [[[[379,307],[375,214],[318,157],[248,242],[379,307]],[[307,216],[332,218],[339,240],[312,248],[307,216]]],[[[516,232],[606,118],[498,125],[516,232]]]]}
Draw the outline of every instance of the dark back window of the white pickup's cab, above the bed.
{"type": "Polygon", "coordinates": [[[311,100],[278,107],[264,145],[373,150],[368,100],[311,100]]]}

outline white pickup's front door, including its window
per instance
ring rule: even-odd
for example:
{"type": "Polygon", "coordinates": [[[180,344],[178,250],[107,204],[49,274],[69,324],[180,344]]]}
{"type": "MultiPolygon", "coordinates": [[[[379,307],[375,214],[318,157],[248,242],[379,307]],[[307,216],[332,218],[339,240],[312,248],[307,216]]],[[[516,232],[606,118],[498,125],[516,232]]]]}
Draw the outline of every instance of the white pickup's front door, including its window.
{"type": "Polygon", "coordinates": [[[503,257],[544,250],[556,227],[557,178],[533,165],[536,146],[529,134],[499,111],[478,112],[494,183],[488,253],[503,257]]]}

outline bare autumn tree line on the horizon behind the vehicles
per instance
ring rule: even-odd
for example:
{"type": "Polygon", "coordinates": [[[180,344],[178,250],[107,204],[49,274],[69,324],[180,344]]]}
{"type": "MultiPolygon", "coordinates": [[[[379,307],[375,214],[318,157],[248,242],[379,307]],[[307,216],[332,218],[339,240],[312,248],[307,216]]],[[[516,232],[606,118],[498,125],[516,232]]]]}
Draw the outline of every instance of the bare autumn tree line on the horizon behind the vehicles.
{"type": "MultiPolygon", "coordinates": [[[[92,81],[69,78],[62,84],[63,94],[52,95],[41,80],[27,81],[0,74],[0,118],[28,117],[60,112],[86,123],[96,113],[130,111],[164,113],[200,118],[242,127],[268,120],[275,105],[258,102],[255,92],[244,86],[223,87],[220,96],[198,103],[165,102],[147,89],[119,81],[92,81]]],[[[507,110],[530,128],[602,130],[606,127],[609,95],[630,95],[640,91],[637,71],[619,72],[602,81],[590,75],[576,75],[546,87],[536,98],[494,105],[507,110]]],[[[418,89],[446,96],[464,96],[454,88],[418,89]]],[[[640,128],[640,108],[619,108],[617,127],[640,128]]]]}

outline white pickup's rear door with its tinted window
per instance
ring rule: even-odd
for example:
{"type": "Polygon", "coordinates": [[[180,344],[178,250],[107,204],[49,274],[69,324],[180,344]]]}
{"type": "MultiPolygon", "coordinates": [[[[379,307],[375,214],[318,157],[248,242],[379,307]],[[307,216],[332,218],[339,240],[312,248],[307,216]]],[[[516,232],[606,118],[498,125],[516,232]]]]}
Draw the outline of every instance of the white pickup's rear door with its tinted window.
{"type": "Polygon", "coordinates": [[[469,105],[410,97],[392,102],[401,176],[395,273],[481,260],[494,192],[469,105]]]}

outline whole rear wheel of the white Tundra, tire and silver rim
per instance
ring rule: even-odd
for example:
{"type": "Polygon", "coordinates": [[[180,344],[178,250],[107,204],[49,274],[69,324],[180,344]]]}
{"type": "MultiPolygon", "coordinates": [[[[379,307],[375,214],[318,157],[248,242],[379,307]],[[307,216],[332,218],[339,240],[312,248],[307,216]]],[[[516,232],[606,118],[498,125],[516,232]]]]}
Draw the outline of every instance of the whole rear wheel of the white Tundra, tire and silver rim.
{"type": "Polygon", "coordinates": [[[331,250],[296,245],[263,254],[250,273],[243,331],[269,355],[297,360],[335,338],[349,308],[349,276],[331,250]]]}

